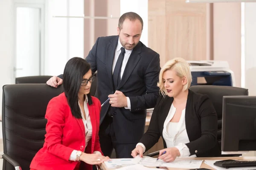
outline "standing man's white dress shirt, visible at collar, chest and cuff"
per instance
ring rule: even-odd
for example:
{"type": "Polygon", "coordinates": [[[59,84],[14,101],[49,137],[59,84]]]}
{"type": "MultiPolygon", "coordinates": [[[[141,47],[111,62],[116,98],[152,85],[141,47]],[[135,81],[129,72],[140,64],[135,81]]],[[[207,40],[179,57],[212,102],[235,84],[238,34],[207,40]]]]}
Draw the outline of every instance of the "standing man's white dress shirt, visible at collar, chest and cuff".
{"type": "MultiPolygon", "coordinates": [[[[122,47],[123,46],[120,42],[120,39],[118,38],[118,43],[117,43],[117,46],[116,46],[116,53],[115,53],[115,56],[114,56],[114,61],[113,61],[113,66],[112,66],[112,74],[114,73],[116,62],[117,62],[117,59],[119,57],[119,54],[121,53],[121,48],[122,47]]],[[[121,79],[122,79],[122,75],[124,74],[125,66],[128,62],[128,59],[131,55],[131,52],[132,52],[132,50],[126,50],[125,49],[125,57],[122,61],[122,67],[121,67],[121,72],[120,72],[121,79]]],[[[129,97],[126,97],[126,99],[127,99],[127,108],[126,109],[131,109],[131,101],[130,101],[129,97]]]]}

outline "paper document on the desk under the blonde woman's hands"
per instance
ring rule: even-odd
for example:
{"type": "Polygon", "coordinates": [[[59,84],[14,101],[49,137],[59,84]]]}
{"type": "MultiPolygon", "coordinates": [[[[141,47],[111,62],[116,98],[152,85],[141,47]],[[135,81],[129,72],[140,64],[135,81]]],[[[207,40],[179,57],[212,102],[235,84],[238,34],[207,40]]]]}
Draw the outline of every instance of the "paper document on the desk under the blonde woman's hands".
{"type": "Polygon", "coordinates": [[[164,162],[161,159],[157,161],[156,158],[151,158],[148,156],[137,156],[134,158],[134,164],[141,164],[147,167],[174,167],[174,168],[190,168],[196,169],[200,168],[202,164],[202,160],[183,160],[183,159],[175,159],[173,162],[164,162]]]}

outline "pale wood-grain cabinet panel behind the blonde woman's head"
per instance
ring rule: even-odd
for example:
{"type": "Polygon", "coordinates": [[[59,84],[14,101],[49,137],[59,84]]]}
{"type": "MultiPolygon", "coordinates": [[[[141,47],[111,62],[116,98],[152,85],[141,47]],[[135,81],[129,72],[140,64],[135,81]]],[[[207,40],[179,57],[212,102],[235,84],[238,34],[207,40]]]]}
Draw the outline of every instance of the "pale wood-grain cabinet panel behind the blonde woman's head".
{"type": "Polygon", "coordinates": [[[148,0],[148,47],[160,54],[161,66],[175,57],[207,59],[207,6],[185,0],[148,0]]]}

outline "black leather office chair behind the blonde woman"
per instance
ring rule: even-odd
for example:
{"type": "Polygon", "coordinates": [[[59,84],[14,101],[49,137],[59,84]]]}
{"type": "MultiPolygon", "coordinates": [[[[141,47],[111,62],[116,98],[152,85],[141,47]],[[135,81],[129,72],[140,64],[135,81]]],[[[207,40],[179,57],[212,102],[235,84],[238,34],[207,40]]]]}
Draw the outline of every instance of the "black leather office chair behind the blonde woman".
{"type": "MultiPolygon", "coordinates": [[[[212,101],[218,117],[217,140],[221,148],[223,96],[248,96],[248,89],[231,87],[231,86],[218,86],[218,85],[193,85],[189,89],[196,93],[207,94],[210,100],[212,101]]],[[[147,156],[156,156],[158,154],[159,154],[159,151],[156,151],[153,153],[149,153],[147,156]]],[[[238,155],[222,155],[222,156],[238,156],[238,155]]]]}

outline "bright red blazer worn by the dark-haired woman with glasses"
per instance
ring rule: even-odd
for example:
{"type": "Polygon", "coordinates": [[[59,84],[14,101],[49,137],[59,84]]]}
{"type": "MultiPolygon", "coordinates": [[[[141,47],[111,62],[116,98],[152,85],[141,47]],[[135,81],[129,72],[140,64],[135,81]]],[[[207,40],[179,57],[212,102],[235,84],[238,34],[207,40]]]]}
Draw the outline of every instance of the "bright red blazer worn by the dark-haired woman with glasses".
{"type": "MultiPolygon", "coordinates": [[[[88,95],[88,110],[93,128],[92,139],[85,153],[99,151],[99,119],[101,104],[99,99],[88,95]]],[[[80,162],[69,161],[73,150],[84,151],[85,129],[82,119],[75,118],[64,93],[51,99],[47,106],[46,135],[43,148],[36,153],[30,168],[36,170],[74,170],[80,162]]],[[[102,153],[103,155],[103,153],[102,153]]],[[[92,165],[85,164],[86,170],[92,165]]]]}

